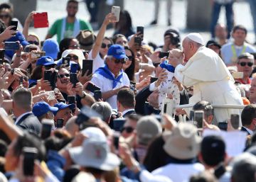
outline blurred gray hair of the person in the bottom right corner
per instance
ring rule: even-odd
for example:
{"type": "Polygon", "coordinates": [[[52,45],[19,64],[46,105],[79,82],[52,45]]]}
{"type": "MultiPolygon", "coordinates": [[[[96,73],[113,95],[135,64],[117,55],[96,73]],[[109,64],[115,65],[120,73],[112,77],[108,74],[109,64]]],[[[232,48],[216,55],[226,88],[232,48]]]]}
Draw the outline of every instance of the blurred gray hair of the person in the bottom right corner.
{"type": "Polygon", "coordinates": [[[233,182],[255,182],[256,157],[249,153],[243,153],[233,161],[231,178],[233,182]]]}

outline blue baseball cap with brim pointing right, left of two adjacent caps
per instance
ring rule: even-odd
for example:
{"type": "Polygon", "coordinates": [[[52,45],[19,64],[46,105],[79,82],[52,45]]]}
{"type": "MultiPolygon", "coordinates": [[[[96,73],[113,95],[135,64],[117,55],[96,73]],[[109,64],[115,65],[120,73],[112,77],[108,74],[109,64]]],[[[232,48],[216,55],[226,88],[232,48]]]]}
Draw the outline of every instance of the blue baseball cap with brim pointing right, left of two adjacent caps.
{"type": "Polygon", "coordinates": [[[44,114],[48,113],[49,111],[54,113],[54,112],[58,111],[58,108],[51,107],[45,101],[40,101],[38,103],[35,103],[32,108],[32,112],[34,115],[36,115],[36,117],[40,117],[41,115],[44,115],[44,114]]]}

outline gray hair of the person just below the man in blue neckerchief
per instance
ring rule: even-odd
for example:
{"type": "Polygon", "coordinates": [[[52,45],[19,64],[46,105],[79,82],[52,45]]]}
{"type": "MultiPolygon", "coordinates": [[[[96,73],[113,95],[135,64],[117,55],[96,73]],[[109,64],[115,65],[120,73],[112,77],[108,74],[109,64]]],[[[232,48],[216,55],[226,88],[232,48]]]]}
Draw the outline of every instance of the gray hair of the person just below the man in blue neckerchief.
{"type": "Polygon", "coordinates": [[[92,104],[92,110],[95,110],[97,113],[102,115],[102,120],[107,122],[112,114],[112,108],[107,102],[97,102],[92,104]]]}

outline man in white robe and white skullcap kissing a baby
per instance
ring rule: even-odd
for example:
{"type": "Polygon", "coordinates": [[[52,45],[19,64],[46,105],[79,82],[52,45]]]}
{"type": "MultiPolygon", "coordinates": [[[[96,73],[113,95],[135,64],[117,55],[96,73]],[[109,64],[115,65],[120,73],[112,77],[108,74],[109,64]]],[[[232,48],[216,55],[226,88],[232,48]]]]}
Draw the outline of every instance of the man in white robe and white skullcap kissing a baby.
{"type": "MultiPolygon", "coordinates": [[[[193,86],[193,96],[189,103],[208,101],[211,104],[242,105],[242,98],[235,89],[233,76],[223,60],[213,50],[203,46],[201,35],[188,34],[182,45],[188,62],[183,66],[178,60],[173,60],[171,64],[176,67],[176,79],[184,86],[193,86]]],[[[214,108],[218,123],[227,120],[233,113],[240,114],[240,110],[214,108]]]]}

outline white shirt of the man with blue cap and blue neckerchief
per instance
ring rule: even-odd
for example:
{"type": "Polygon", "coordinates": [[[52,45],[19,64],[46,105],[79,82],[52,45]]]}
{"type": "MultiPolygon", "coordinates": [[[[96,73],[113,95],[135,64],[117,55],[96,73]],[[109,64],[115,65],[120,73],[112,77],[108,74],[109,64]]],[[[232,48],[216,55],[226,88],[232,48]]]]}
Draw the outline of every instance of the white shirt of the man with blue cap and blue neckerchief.
{"type": "MultiPolygon", "coordinates": [[[[113,74],[113,76],[114,76],[114,74],[113,74]]],[[[121,82],[117,82],[117,85],[114,88],[112,88],[113,81],[105,78],[101,74],[97,74],[97,73],[93,74],[92,80],[91,80],[91,82],[93,84],[100,87],[100,91],[102,91],[102,93],[104,93],[106,91],[113,90],[113,89],[120,88],[122,86],[129,86],[129,84],[130,84],[129,78],[126,73],[123,73],[123,76],[120,79],[120,81],[121,82]]],[[[106,102],[110,103],[110,106],[112,107],[112,109],[117,109],[117,96],[116,95],[108,98],[106,102]]]]}

